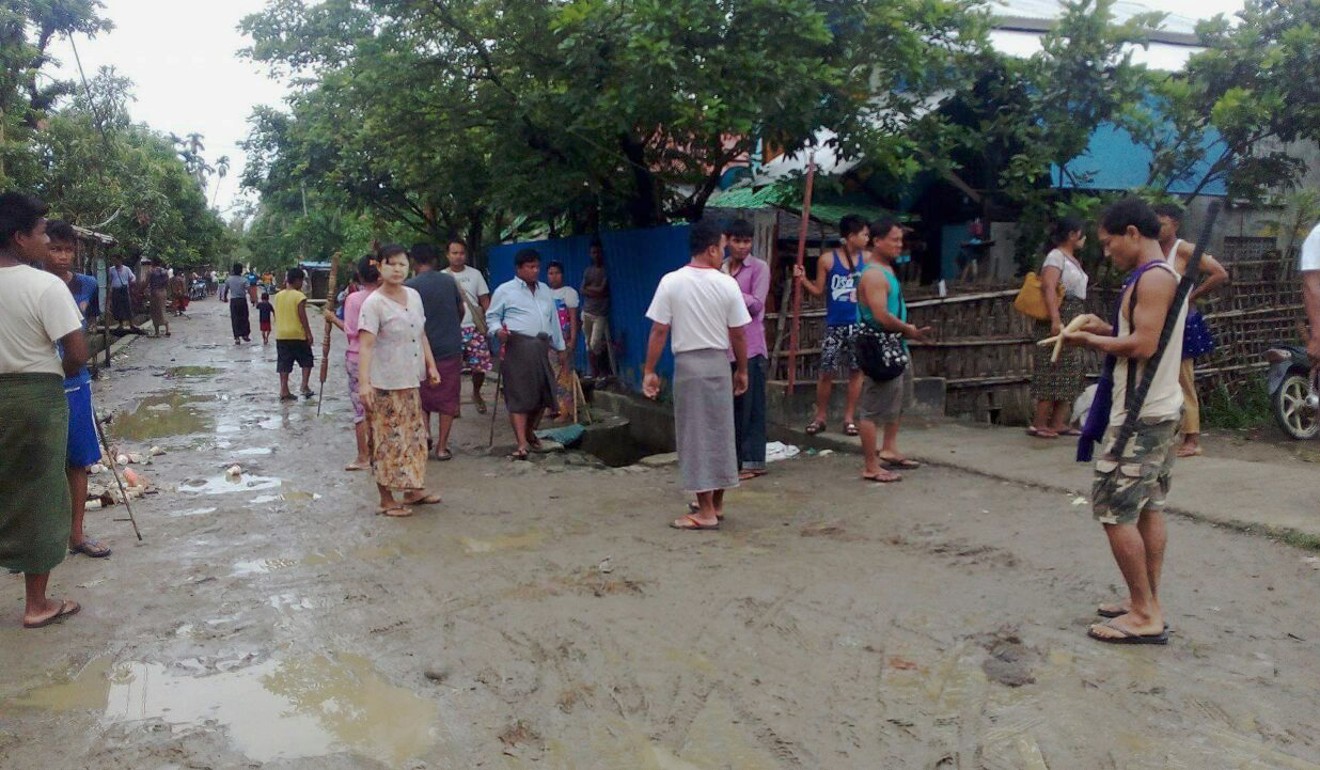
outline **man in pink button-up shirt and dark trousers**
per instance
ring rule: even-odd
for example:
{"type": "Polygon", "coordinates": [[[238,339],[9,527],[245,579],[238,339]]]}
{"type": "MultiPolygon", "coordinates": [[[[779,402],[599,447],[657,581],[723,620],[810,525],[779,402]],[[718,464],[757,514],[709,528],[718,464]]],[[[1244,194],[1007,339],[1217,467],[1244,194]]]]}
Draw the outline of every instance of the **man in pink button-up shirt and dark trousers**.
{"type": "MultiPolygon", "coordinates": [[[[766,297],[770,295],[770,265],[752,256],[755,231],[751,222],[734,219],[725,230],[729,259],[723,272],[738,283],[743,305],[751,316],[744,339],[747,343],[747,392],[734,396],[734,441],[738,446],[738,479],[750,481],[766,474],[766,297]]],[[[735,366],[729,351],[730,366],[735,366]]]]}

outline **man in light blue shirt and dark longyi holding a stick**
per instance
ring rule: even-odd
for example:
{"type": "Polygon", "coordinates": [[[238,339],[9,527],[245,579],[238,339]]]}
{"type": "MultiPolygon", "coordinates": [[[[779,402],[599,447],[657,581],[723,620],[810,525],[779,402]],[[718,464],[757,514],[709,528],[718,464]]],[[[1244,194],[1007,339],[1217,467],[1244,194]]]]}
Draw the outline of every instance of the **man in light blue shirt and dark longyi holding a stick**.
{"type": "Polygon", "coordinates": [[[546,409],[554,409],[554,372],[550,350],[568,366],[568,349],[560,330],[560,316],[550,297],[550,287],[541,275],[541,255],[524,248],[513,255],[513,279],[491,295],[486,310],[486,328],[495,329],[500,345],[500,378],[504,382],[504,405],[517,446],[512,460],[527,460],[529,449],[541,449],[536,429],[546,409]]]}

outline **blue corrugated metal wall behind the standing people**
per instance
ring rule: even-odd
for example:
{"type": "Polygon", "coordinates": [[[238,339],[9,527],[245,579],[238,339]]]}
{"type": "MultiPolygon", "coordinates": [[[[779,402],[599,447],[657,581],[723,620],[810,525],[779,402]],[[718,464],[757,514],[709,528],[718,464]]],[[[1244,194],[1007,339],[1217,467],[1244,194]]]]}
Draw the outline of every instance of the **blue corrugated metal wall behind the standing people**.
{"type": "MultiPolygon", "coordinates": [[[[523,248],[541,254],[541,280],[545,265],[564,263],[564,283],[582,291],[582,273],[591,263],[587,250],[590,235],[557,240],[532,240],[492,247],[487,255],[491,289],[513,277],[513,255],[523,248]]],[[[647,358],[647,338],[651,321],[647,308],[660,277],[688,264],[688,226],[655,227],[602,232],[605,269],[610,280],[610,330],[614,337],[619,376],[632,387],[642,387],[642,366],[647,358]]],[[[581,342],[574,351],[578,370],[586,371],[586,350],[581,342]]],[[[673,358],[668,349],[657,371],[665,379],[673,372],[673,358]]]]}

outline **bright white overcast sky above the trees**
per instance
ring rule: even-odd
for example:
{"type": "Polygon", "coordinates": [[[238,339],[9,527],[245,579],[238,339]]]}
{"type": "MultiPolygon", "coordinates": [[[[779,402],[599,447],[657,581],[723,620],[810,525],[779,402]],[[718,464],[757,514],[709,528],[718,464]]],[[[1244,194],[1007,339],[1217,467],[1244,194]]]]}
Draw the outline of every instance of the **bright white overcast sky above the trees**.
{"type": "MultiPolygon", "coordinates": [[[[1010,0],[1011,1],[1011,0],[1010,0]]],[[[277,104],[284,86],[243,61],[238,50],[247,40],[239,20],[259,12],[264,0],[103,0],[103,15],[114,32],[96,40],[79,38],[78,53],[90,78],[100,66],[115,66],[131,78],[137,102],[132,115],[161,132],[205,135],[206,157],[230,156],[232,168],[220,182],[218,206],[226,210],[238,195],[247,118],[257,104],[277,104]]],[[[1155,11],[1189,18],[1233,13],[1242,0],[1144,0],[1155,11]]],[[[75,77],[66,41],[54,46],[63,75],[75,77]]]]}

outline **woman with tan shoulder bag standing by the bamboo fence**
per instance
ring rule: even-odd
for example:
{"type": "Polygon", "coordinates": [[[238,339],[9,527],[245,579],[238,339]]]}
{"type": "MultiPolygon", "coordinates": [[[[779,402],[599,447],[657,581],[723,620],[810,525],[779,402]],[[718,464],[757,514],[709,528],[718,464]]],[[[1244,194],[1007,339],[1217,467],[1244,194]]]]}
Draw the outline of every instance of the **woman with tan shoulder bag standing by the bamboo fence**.
{"type": "MultiPolygon", "coordinates": [[[[1064,217],[1049,231],[1049,254],[1040,268],[1049,321],[1036,324],[1036,339],[1063,332],[1068,321],[1082,313],[1089,277],[1077,255],[1086,243],[1085,225],[1076,217],[1064,217]],[[1059,288],[1063,287],[1060,298],[1059,288]]],[[[1068,427],[1068,412],[1085,386],[1085,362],[1081,351],[1064,349],[1059,361],[1051,361],[1052,347],[1036,347],[1035,371],[1031,376],[1031,398],[1036,413],[1027,435],[1036,438],[1080,436],[1081,431],[1068,427]]]]}

